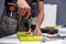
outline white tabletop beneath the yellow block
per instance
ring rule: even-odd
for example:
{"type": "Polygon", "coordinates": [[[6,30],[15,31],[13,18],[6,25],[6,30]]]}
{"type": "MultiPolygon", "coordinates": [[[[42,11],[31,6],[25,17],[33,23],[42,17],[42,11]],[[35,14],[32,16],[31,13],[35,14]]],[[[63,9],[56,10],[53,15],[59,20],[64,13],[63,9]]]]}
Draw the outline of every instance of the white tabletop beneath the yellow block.
{"type": "MultiPolygon", "coordinates": [[[[44,36],[45,37],[45,36],[44,36]]],[[[48,38],[48,37],[45,37],[48,38]]],[[[0,38],[0,43],[7,44],[66,44],[66,38],[57,38],[54,37],[53,41],[45,42],[20,42],[16,34],[0,38]]]]}

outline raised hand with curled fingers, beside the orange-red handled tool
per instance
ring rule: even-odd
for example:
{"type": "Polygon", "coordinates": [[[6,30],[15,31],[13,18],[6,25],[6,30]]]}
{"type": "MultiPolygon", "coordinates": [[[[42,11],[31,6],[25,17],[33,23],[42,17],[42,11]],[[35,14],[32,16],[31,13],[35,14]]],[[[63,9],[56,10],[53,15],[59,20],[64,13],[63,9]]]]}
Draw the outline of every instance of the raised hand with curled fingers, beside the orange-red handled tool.
{"type": "Polygon", "coordinates": [[[21,15],[25,15],[26,13],[25,19],[28,19],[31,14],[31,7],[28,4],[28,2],[25,0],[18,0],[16,4],[18,4],[18,13],[21,15]]]}

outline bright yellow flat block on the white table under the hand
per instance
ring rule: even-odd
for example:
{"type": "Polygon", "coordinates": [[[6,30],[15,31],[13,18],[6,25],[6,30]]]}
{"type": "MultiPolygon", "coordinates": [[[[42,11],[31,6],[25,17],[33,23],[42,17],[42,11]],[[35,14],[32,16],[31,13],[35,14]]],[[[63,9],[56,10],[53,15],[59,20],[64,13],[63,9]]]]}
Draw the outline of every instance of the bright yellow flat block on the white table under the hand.
{"type": "Polygon", "coordinates": [[[33,34],[26,34],[26,32],[18,32],[19,40],[21,42],[41,42],[43,38],[33,34]]]}

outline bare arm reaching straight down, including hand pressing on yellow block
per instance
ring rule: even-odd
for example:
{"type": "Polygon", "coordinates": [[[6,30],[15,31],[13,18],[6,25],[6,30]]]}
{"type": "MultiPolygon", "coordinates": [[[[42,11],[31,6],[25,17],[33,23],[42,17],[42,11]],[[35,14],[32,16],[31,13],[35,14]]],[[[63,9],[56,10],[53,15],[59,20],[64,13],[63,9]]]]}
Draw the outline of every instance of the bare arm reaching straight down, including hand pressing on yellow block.
{"type": "Polygon", "coordinates": [[[37,3],[37,21],[36,21],[36,26],[35,26],[35,31],[34,31],[34,34],[36,35],[41,35],[42,32],[41,32],[41,24],[44,20],[44,2],[43,1],[38,1],[37,3]]]}

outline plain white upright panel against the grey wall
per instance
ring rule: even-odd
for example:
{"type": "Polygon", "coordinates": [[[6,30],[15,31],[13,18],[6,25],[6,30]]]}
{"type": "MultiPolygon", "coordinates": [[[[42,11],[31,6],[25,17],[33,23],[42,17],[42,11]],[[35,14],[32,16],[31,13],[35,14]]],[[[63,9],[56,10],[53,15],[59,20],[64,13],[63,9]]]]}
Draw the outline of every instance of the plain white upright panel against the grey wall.
{"type": "Polygon", "coordinates": [[[57,4],[44,4],[44,21],[41,28],[56,25],[57,4]]]}

